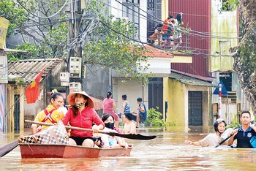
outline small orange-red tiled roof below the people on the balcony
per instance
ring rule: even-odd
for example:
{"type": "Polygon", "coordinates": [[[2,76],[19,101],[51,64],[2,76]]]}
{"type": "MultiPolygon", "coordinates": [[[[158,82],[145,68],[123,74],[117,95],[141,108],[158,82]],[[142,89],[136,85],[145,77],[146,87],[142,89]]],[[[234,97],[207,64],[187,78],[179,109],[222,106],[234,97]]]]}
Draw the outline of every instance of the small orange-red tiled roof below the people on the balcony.
{"type": "Polygon", "coordinates": [[[154,58],[173,58],[174,55],[173,53],[169,53],[165,50],[159,50],[157,49],[156,47],[152,47],[150,45],[144,45],[144,47],[146,47],[146,49],[149,51],[149,52],[146,52],[145,53],[145,56],[152,56],[154,58]]]}

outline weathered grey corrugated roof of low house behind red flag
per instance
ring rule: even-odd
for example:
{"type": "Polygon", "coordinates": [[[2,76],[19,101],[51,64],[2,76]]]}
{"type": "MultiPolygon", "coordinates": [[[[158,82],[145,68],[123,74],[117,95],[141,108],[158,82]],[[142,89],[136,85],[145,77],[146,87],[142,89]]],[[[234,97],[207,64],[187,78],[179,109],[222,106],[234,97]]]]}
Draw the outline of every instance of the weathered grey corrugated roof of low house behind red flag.
{"type": "Polygon", "coordinates": [[[45,68],[42,77],[48,75],[64,59],[61,58],[39,58],[20,61],[8,61],[8,75],[11,77],[22,77],[24,82],[33,81],[39,72],[45,68]]]}

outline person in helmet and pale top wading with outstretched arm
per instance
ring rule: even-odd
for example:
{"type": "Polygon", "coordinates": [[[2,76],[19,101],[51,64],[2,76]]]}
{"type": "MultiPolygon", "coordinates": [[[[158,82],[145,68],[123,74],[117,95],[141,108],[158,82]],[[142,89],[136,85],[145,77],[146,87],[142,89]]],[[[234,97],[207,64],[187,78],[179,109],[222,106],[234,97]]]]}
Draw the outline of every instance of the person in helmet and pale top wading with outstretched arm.
{"type": "Polygon", "coordinates": [[[207,147],[207,146],[215,147],[219,145],[219,142],[223,140],[221,136],[225,131],[225,126],[227,126],[227,123],[225,122],[225,120],[222,118],[218,118],[214,122],[215,134],[208,134],[205,138],[203,138],[203,140],[200,140],[200,141],[186,140],[185,143],[187,145],[201,145],[202,147],[207,147]]]}

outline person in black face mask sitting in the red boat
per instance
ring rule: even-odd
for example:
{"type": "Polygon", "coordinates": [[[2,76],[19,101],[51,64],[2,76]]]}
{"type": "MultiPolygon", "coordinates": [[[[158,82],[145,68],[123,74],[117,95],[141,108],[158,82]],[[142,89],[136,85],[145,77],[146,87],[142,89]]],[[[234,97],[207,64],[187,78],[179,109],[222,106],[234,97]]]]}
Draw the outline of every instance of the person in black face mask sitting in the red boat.
{"type": "MultiPolygon", "coordinates": [[[[121,133],[119,129],[116,129],[114,126],[114,117],[110,113],[105,113],[102,115],[102,121],[105,123],[105,129],[103,129],[104,132],[116,132],[116,133],[121,133]]],[[[97,133],[94,134],[94,137],[100,137],[101,140],[104,142],[103,147],[104,148],[128,148],[127,142],[125,142],[124,138],[121,137],[112,137],[108,134],[102,134],[102,133],[97,133]]],[[[96,145],[99,145],[95,142],[96,145]]]]}

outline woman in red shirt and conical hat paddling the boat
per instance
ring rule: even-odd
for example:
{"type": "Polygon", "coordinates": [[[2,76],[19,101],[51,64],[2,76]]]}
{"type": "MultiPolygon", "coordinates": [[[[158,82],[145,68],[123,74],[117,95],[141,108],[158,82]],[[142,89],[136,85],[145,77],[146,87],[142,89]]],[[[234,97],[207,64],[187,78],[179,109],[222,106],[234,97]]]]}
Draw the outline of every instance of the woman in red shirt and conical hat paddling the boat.
{"type": "MultiPolygon", "coordinates": [[[[105,124],[94,110],[94,101],[85,91],[69,94],[69,96],[67,96],[67,102],[71,107],[64,118],[62,118],[64,125],[69,123],[70,126],[93,129],[93,132],[99,132],[99,130],[104,129],[105,124]],[[92,123],[95,123],[93,128],[92,123]]],[[[71,145],[94,147],[92,132],[71,130],[69,142],[71,145]]]]}

